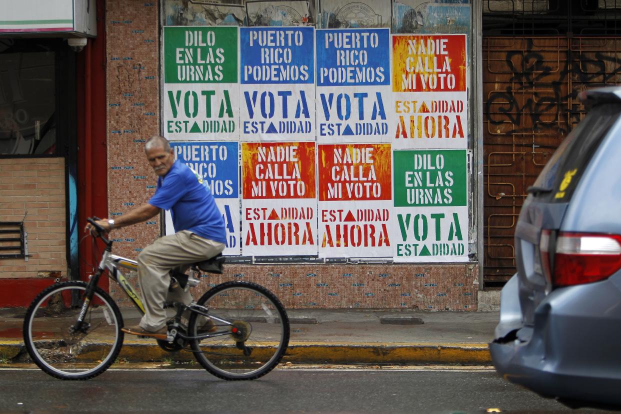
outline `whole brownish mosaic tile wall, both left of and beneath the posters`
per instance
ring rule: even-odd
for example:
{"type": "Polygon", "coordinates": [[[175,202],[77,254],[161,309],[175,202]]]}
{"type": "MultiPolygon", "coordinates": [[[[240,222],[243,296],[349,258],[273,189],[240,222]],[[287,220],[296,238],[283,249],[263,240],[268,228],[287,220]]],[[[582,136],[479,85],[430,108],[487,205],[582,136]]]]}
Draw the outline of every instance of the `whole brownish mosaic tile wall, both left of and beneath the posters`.
{"type": "MultiPolygon", "coordinates": [[[[157,7],[156,2],[106,2],[111,217],[146,202],[154,191],[155,175],[144,158],[143,142],[160,132],[157,7]]],[[[114,251],[135,258],[159,234],[159,220],[113,232],[114,251]]],[[[194,295],[240,279],[273,290],[289,308],[469,311],[476,310],[478,270],[476,264],[229,264],[224,275],[204,279],[194,295]]],[[[111,292],[118,296],[118,287],[111,286],[111,292]]]]}

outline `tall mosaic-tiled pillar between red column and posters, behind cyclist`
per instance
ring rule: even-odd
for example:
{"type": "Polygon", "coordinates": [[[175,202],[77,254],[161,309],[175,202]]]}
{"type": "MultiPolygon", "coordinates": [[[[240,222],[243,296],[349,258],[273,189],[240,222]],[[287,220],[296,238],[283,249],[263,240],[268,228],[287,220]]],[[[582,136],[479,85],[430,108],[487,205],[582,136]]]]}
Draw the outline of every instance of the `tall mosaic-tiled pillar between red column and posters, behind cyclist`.
{"type": "MultiPolygon", "coordinates": [[[[144,142],[160,132],[158,2],[106,1],[108,214],[147,202],[155,191],[144,142]]],[[[112,232],[114,253],[136,258],[160,235],[160,220],[112,232]]]]}

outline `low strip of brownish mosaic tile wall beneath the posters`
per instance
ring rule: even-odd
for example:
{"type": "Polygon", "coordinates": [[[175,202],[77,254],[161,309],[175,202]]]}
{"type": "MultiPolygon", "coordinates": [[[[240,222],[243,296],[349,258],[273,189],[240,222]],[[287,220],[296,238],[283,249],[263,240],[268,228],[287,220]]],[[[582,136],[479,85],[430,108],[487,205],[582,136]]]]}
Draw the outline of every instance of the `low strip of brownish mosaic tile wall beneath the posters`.
{"type": "MultiPolygon", "coordinates": [[[[255,264],[225,265],[192,290],[198,299],[226,281],[256,282],[286,308],[404,308],[476,310],[478,266],[474,264],[255,264]]],[[[130,277],[132,284],[137,277],[130,277]]],[[[111,286],[119,297],[119,287],[111,286]]],[[[129,300],[122,303],[129,305],[129,300]]]]}

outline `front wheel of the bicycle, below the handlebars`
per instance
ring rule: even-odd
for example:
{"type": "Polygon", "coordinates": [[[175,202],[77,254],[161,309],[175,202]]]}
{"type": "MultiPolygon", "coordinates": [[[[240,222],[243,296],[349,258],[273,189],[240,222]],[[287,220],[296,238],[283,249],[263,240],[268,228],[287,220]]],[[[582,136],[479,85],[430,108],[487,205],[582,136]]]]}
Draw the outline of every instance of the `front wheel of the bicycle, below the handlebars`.
{"type": "Polygon", "coordinates": [[[24,320],[24,343],[43,371],[60,379],[89,379],[114,362],[123,344],[122,316],[111,297],[96,287],[84,323],[76,326],[86,283],[63,282],[43,290],[24,320]]]}

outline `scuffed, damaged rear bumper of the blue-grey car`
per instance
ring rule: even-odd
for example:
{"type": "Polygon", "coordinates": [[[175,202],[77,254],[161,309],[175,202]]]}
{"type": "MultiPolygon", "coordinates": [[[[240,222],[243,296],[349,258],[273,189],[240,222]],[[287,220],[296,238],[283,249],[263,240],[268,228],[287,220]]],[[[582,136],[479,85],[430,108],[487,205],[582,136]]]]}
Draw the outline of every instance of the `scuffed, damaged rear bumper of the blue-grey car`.
{"type": "MultiPolygon", "coordinates": [[[[510,292],[517,283],[505,287],[503,298],[517,295],[510,292]]],[[[537,306],[532,326],[516,324],[515,313],[501,302],[489,344],[499,374],[548,397],[621,405],[621,294],[614,282],[554,290],[537,306]]]]}

